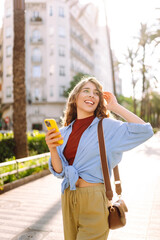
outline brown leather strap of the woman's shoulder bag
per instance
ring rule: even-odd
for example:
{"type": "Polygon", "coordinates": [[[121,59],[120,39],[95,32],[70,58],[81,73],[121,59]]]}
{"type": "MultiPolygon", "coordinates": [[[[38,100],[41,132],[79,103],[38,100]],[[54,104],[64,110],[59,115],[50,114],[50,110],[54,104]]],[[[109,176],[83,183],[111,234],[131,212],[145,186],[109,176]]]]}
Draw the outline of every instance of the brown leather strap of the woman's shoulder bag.
{"type": "MultiPolygon", "coordinates": [[[[99,149],[100,149],[100,157],[101,157],[104,184],[105,184],[105,189],[106,189],[106,196],[111,201],[112,198],[113,198],[113,191],[112,191],[110,176],[109,176],[109,169],[108,169],[108,162],[107,162],[106,149],[105,149],[105,143],[104,143],[102,120],[103,119],[101,119],[98,123],[98,140],[99,140],[99,149]]],[[[121,195],[122,188],[121,188],[118,166],[116,166],[113,169],[113,172],[114,172],[116,193],[118,195],[121,195]]]]}

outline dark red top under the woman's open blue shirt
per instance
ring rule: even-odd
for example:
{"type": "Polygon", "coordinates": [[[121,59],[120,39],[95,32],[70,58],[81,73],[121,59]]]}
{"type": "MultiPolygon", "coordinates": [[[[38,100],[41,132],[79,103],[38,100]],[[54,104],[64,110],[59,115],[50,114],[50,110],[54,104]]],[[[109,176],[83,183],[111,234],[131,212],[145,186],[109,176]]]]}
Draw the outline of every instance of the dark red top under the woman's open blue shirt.
{"type": "Polygon", "coordinates": [[[75,120],[72,127],[72,132],[68,138],[68,142],[63,152],[69,165],[73,164],[82,133],[89,127],[93,119],[94,116],[75,120]]]}

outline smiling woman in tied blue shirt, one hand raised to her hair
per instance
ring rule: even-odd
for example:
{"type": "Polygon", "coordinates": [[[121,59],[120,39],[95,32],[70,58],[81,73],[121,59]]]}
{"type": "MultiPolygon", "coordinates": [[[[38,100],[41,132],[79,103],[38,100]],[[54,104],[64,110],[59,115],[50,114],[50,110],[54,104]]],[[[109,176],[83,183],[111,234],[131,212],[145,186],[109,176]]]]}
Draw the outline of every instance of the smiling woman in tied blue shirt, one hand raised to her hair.
{"type": "Polygon", "coordinates": [[[49,168],[62,182],[62,214],[65,240],[106,240],[108,208],[99,154],[97,126],[103,119],[109,171],[121,161],[122,153],[153,135],[152,127],[103,92],[94,77],[80,81],[69,95],[64,127],[46,134],[51,152],[49,168]],[[106,101],[104,101],[104,99],[106,101]],[[107,110],[126,122],[109,118],[107,110]],[[64,139],[62,145],[56,144],[64,139]]]}

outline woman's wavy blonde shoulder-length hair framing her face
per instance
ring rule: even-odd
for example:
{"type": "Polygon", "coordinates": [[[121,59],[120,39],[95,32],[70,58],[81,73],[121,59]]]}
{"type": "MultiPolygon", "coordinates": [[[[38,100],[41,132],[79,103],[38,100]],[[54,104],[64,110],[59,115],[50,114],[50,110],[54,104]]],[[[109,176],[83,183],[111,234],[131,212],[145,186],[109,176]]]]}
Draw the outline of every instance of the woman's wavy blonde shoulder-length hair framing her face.
{"type": "Polygon", "coordinates": [[[62,119],[63,126],[68,126],[73,120],[77,118],[76,99],[83,86],[88,82],[93,83],[99,92],[99,103],[94,112],[95,117],[98,118],[109,117],[109,113],[104,105],[102,85],[98,82],[98,80],[95,77],[83,77],[81,81],[74,87],[74,89],[69,94],[68,101],[66,104],[66,110],[64,111],[64,118],[62,119]]]}

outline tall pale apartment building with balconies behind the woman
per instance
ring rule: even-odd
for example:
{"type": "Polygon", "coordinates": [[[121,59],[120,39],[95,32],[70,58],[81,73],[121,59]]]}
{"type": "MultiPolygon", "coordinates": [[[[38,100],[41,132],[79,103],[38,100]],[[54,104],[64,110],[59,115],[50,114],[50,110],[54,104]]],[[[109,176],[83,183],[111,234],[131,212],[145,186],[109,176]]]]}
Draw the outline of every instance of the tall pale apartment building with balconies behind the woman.
{"type": "MultiPolygon", "coordinates": [[[[63,115],[63,92],[78,72],[91,74],[113,91],[105,28],[97,25],[98,10],[78,1],[25,1],[25,81],[27,129],[44,130],[43,120],[63,115]]],[[[6,0],[3,34],[3,118],[12,122],[13,5],[6,0]]]]}

